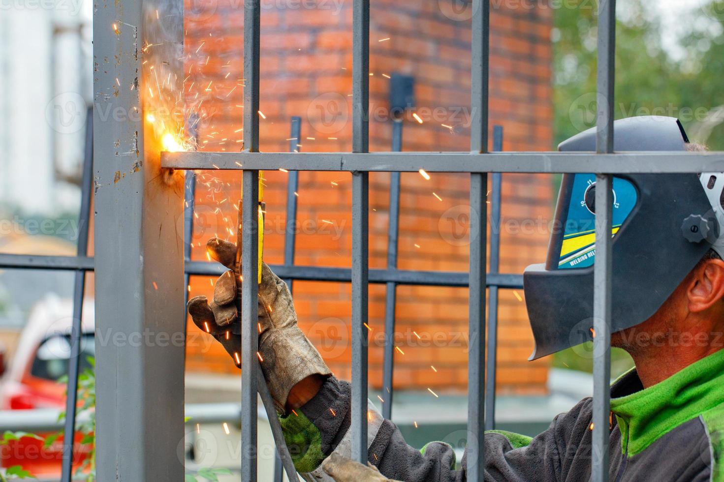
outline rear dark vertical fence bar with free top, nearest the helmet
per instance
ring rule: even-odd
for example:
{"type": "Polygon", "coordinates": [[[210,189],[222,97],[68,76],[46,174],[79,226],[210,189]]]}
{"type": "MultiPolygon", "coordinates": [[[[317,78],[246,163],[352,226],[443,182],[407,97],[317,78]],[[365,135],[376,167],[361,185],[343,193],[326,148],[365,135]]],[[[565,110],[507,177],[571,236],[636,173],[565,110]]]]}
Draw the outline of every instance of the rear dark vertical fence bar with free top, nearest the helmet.
{"type": "MultiPolygon", "coordinates": [[[[493,151],[502,151],[502,126],[493,127],[493,151]]],[[[500,198],[502,174],[493,174],[492,200],[490,201],[490,273],[500,270],[500,198]]],[[[498,287],[489,287],[488,305],[488,358],[485,365],[485,430],[495,428],[495,360],[497,359],[497,305],[498,287]]]]}

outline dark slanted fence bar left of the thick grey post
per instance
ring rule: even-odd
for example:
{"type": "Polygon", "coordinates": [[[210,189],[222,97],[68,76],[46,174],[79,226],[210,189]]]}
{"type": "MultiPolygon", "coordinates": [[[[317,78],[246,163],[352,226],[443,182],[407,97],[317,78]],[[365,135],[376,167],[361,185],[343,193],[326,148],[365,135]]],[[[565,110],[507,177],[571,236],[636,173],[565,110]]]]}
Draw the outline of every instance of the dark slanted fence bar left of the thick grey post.
{"type": "MultiPolygon", "coordinates": [[[[90,193],[93,179],[93,108],[89,108],[85,124],[85,153],[83,177],[80,182],[80,212],[78,213],[77,255],[88,255],[88,221],[90,219],[90,193]]],[[[75,440],[75,410],[80,371],[80,349],[83,342],[83,298],[85,271],[75,271],[73,283],[73,318],[70,331],[70,360],[68,360],[67,398],[65,401],[65,427],[63,431],[63,465],[61,480],[70,482],[73,472],[73,441],[75,440]]]]}

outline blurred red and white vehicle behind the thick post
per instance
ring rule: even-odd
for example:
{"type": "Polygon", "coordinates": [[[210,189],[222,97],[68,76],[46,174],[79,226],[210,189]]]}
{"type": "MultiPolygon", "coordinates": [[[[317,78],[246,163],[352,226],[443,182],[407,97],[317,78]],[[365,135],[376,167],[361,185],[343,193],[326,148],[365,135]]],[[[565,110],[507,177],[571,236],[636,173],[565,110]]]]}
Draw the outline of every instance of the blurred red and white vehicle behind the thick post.
{"type": "MultiPolygon", "coordinates": [[[[30,311],[28,324],[20,334],[14,356],[0,379],[0,410],[65,410],[65,385],[58,379],[67,375],[70,358],[72,300],[47,295],[30,311]]],[[[83,338],[80,371],[90,368],[88,357],[95,352],[93,300],[83,305],[83,338]]],[[[28,430],[32,431],[32,430],[28,430]]],[[[49,434],[38,434],[47,436],[49,434]]],[[[75,438],[80,441],[80,435],[75,438]]],[[[43,441],[23,437],[0,447],[2,467],[20,465],[35,476],[59,478],[62,465],[62,437],[49,447],[43,441]]],[[[77,453],[77,452],[76,452],[77,453]]],[[[77,462],[81,457],[74,457],[77,462]]]]}

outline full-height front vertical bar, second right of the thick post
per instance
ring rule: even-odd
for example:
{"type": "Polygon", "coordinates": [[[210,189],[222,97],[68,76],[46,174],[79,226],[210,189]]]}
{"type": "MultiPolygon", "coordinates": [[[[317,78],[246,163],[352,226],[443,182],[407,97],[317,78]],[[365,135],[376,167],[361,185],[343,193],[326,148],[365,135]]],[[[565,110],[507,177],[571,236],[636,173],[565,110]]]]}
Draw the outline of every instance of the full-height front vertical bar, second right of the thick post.
{"type": "MultiPolygon", "coordinates": [[[[352,151],[369,151],[369,0],[352,15],[352,151]]],[[[352,436],[351,457],[367,462],[367,301],[369,172],[352,173],[352,436]]]]}

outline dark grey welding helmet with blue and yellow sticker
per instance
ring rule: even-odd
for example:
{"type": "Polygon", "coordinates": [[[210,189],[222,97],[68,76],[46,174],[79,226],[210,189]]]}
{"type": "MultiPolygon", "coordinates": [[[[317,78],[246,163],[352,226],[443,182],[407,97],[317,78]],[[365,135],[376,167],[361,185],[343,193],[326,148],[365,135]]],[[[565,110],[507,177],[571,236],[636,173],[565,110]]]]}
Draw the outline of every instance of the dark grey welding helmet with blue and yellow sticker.
{"type": "MultiPolygon", "coordinates": [[[[673,117],[614,123],[615,151],[686,151],[673,117]]],[[[595,151],[595,129],[558,146],[595,151]]],[[[656,166],[652,166],[655,170],[656,166]]],[[[535,360],[593,336],[595,174],[563,174],[547,259],[523,274],[535,360]]],[[[724,173],[615,174],[611,325],[615,333],[652,316],[708,250],[724,253],[724,173]]]]}

